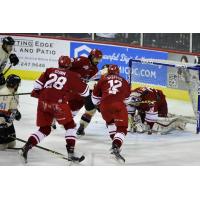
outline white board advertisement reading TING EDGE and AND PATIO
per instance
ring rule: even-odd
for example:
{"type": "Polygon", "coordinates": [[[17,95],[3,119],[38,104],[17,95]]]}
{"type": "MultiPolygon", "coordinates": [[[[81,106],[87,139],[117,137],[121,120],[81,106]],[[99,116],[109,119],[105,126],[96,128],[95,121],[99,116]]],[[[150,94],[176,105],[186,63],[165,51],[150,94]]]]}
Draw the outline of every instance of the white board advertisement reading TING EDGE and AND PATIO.
{"type": "MultiPolygon", "coordinates": [[[[0,43],[6,35],[0,35],[0,43]]],[[[19,64],[13,69],[45,71],[48,67],[57,67],[61,55],[69,55],[69,42],[66,40],[11,36],[15,40],[13,52],[19,58],[19,64]]]]}

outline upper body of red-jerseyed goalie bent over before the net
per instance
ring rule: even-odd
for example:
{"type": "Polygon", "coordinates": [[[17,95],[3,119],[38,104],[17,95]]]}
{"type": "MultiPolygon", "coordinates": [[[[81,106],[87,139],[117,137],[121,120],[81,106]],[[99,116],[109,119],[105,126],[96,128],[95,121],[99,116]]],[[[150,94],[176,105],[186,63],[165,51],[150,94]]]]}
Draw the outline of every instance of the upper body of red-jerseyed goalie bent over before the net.
{"type": "Polygon", "coordinates": [[[129,113],[134,116],[137,109],[142,124],[147,125],[144,131],[152,134],[152,128],[158,117],[167,117],[168,107],[165,95],[158,89],[138,87],[132,90],[131,96],[132,106],[128,106],[129,113]]]}

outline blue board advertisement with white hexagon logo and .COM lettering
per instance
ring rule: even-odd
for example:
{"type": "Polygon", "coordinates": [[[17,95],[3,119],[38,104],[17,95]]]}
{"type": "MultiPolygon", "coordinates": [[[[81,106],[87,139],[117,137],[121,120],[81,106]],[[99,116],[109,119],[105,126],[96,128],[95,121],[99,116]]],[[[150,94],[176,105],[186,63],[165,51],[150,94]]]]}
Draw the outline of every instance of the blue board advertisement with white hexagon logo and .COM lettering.
{"type": "MultiPolygon", "coordinates": [[[[167,52],[139,49],[133,47],[115,46],[109,44],[94,44],[84,42],[70,43],[70,56],[88,56],[92,49],[99,49],[103,53],[103,59],[99,63],[99,69],[104,64],[116,64],[120,67],[120,74],[128,80],[129,77],[129,60],[141,58],[168,58],[167,52]]],[[[134,82],[148,83],[155,85],[167,85],[167,68],[150,65],[134,66],[132,68],[132,80],[134,82]]]]}

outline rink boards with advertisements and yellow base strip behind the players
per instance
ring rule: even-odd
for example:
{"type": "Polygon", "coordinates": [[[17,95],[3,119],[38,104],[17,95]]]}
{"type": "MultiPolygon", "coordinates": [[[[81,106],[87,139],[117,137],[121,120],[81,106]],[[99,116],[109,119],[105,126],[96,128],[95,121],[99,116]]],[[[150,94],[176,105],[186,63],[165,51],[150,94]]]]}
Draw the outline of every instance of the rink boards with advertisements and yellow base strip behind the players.
{"type": "MultiPolygon", "coordinates": [[[[0,34],[0,39],[5,37],[0,34]]],[[[120,75],[129,79],[128,62],[133,58],[154,58],[162,60],[180,61],[185,54],[172,53],[159,49],[147,49],[128,45],[99,43],[95,41],[75,41],[59,38],[35,37],[14,35],[16,41],[13,53],[19,57],[19,64],[7,73],[19,75],[24,80],[36,80],[48,67],[57,67],[60,55],[70,57],[87,56],[91,49],[100,49],[103,52],[102,61],[98,68],[104,64],[116,64],[120,67],[120,75]]],[[[188,62],[194,63],[194,55],[186,55],[188,62]]],[[[8,64],[9,66],[9,64],[8,64]]],[[[148,85],[161,89],[168,98],[189,101],[187,86],[177,70],[168,67],[155,67],[152,65],[133,66],[132,80],[137,82],[133,87],[148,85]],[[178,77],[178,78],[177,78],[178,77]],[[176,89],[174,89],[176,88],[176,89]]]]}

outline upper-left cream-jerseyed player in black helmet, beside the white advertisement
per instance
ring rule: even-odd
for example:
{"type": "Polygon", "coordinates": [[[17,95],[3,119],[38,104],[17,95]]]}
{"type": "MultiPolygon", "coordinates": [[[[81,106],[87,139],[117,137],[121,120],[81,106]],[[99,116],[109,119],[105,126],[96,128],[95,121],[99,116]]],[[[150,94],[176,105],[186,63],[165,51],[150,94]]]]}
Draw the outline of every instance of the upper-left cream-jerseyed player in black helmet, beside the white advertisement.
{"type": "Polygon", "coordinates": [[[3,38],[3,44],[0,46],[0,85],[5,84],[5,78],[3,75],[3,70],[6,67],[8,60],[15,66],[19,63],[19,59],[16,54],[12,54],[13,45],[15,41],[12,37],[3,38]]]}

